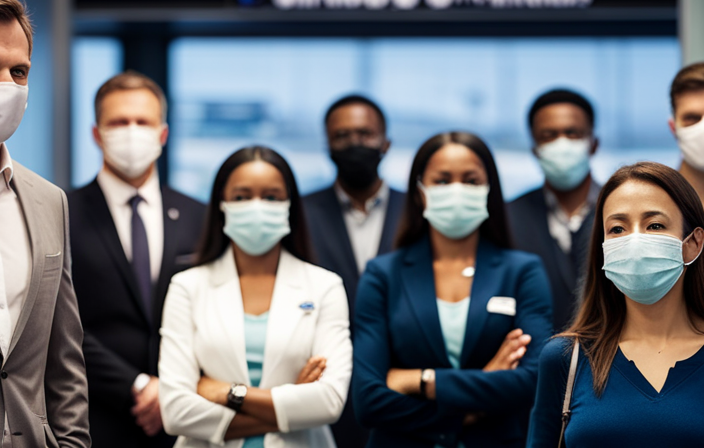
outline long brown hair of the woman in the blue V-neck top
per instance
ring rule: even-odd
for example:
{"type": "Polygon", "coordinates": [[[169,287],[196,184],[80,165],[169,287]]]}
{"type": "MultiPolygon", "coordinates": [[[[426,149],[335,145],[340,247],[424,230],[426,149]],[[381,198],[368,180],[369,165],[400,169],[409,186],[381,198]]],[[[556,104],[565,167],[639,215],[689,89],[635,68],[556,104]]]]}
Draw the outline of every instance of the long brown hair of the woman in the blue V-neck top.
{"type": "MultiPolygon", "coordinates": [[[[683,218],[683,237],[697,227],[704,227],[704,209],[691,185],[677,171],[654,162],[641,162],[616,171],[604,185],[596,204],[594,227],[587,261],[584,299],[570,328],[559,336],[577,338],[592,367],[594,391],[601,394],[606,387],[611,364],[618,350],[618,341],[626,321],[626,299],[606,278],[604,266],[604,203],[627,181],[646,182],[662,188],[670,196],[683,218]]],[[[684,277],[684,300],[694,326],[694,316],[704,319],[704,263],[695,261],[684,277]]],[[[696,328],[696,327],[695,327],[696,328]]]]}

